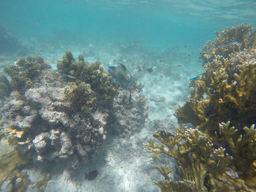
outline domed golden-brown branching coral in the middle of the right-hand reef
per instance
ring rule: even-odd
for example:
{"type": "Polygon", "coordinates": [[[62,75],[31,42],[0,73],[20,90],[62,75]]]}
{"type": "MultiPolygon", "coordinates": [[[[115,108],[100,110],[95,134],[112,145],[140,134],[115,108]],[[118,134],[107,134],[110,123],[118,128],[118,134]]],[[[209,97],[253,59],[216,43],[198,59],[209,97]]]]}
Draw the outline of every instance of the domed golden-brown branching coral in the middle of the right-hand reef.
{"type": "Polygon", "coordinates": [[[216,56],[205,65],[197,81],[192,81],[191,98],[176,109],[179,124],[192,123],[205,133],[214,134],[218,122],[230,120],[239,133],[255,123],[256,49],[216,56]]]}

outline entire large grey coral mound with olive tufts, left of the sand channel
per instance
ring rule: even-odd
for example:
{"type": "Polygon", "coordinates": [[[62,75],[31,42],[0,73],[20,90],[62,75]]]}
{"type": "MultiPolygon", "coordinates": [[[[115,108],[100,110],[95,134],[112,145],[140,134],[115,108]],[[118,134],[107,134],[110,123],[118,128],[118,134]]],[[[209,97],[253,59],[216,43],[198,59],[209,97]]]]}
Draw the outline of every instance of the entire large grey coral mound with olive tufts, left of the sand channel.
{"type": "Polygon", "coordinates": [[[74,173],[97,154],[97,148],[106,140],[107,124],[124,121],[120,129],[131,134],[145,122],[145,99],[132,92],[134,97],[128,104],[129,94],[111,83],[100,62],[86,65],[82,55],[76,62],[67,51],[63,60],[58,60],[60,74],[47,65],[38,73],[38,67],[25,67],[40,66],[42,61],[27,57],[6,68],[11,84],[18,83],[14,74],[20,72],[20,78],[28,78],[31,86],[20,89],[24,92],[21,97],[17,97],[20,90],[12,86],[13,92],[0,109],[0,140],[6,138],[34,164],[51,166],[61,161],[74,173]],[[11,68],[15,69],[13,73],[11,68]],[[134,125],[132,129],[128,122],[134,125]]]}

